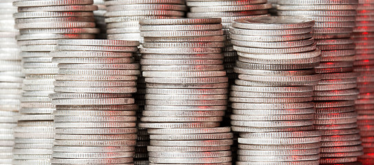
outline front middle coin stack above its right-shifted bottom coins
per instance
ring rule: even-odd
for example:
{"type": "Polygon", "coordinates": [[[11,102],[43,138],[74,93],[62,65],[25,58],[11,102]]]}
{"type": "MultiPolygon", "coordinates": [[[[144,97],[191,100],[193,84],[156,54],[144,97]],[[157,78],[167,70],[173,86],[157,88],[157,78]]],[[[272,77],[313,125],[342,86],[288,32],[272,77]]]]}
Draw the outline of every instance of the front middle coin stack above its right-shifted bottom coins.
{"type": "Polygon", "coordinates": [[[228,98],[221,19],[144,19],[140,25],[147,85],[140,126],[219,126],[228,98]]]}

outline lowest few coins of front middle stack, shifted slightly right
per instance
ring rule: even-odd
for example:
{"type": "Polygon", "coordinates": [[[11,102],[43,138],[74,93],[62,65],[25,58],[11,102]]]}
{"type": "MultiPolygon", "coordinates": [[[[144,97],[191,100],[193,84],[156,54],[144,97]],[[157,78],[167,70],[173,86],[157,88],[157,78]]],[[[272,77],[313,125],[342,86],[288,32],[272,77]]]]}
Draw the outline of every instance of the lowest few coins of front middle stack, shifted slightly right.
{"type": "Polygon", "coordinates": [[[150,165],[231,165],[230,127],[203,129],[149,129],[150,165]]]}

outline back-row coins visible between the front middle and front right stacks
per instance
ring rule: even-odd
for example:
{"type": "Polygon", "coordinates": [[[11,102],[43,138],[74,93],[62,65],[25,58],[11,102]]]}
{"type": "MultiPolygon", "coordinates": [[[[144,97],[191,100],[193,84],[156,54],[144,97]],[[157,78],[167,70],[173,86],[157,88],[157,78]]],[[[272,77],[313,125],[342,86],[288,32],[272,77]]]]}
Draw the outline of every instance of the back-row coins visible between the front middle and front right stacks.
{"type": "Polygon", "coordinates": [[[255,1],[217,1],[217,0],[187,0],[186,5],[190,7],[187,17],[189,18],[221,18],[224,36],[227,41],[223,48],[223,55],[225,56],[225,70],[228,73],[229,80],[233,81],[236,78],[233,68],[236,61],[236,52],[232,49],[230,42],[229,30],[232,21],[235,19],[243,19],[248,17],[267,16],[267,10],[272,7],[267,0],[255,1]]]}

